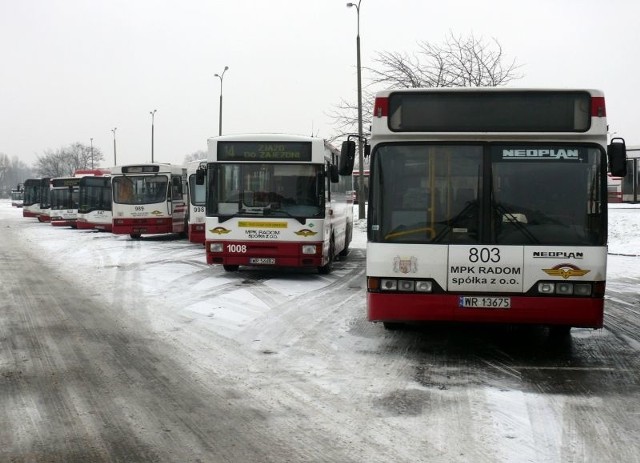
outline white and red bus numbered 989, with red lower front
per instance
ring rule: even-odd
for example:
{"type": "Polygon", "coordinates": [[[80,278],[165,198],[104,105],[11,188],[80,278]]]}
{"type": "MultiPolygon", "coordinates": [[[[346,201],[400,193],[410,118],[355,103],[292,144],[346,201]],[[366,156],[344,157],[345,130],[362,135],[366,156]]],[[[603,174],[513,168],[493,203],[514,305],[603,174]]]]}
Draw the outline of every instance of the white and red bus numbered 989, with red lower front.
{"type": "Polygon", "coordinates": [[[111,173],[112,228],[138,239],[145,234],[186,234],[187,169],[171,164],[116,166],[111,173]]]}

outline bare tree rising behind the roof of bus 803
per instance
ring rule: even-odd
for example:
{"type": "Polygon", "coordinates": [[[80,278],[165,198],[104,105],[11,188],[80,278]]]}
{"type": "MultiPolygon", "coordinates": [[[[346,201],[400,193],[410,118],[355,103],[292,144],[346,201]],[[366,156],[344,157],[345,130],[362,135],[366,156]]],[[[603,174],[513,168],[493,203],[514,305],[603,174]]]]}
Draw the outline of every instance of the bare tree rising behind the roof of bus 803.
{"type": "MultiPolygon", "coordinates": [[[[382,88],[427,87],[499,87],[520,79],[516,60],[506,61],[496,39],[486,41],[473,34],[468,37],[450,33],[442,44],[418,42],[418,50],[378,52],[375,66],[364,67],[369,74],[363,90],[363,126],[370,127],[374,95],[382,88]]],[[[337,135],[343,138],[355,132],[358,124],[357,102],[342,100],[330,116],[337,135]]]]}

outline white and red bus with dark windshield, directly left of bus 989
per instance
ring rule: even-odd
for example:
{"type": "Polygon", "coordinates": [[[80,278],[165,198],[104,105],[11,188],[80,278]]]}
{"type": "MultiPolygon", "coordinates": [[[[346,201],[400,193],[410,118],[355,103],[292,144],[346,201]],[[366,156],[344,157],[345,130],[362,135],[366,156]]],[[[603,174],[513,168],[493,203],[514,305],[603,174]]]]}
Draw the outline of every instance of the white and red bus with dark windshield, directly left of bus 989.
{"type": "Polygon", "coordinates": [[[111,176],[82,177],[79,188],[77,227],[110,232],[111,176]]]}

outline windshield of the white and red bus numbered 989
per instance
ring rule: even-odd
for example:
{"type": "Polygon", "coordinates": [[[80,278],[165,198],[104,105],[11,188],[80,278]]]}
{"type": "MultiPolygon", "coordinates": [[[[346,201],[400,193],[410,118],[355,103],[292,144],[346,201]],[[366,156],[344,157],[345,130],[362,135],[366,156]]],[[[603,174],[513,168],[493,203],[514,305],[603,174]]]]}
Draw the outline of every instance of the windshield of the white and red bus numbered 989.
{"type": "Polygon", "coordinates": [[[113,177],[113,200],[120,204],[154,204],[167,200],[166,175],[123,175],[113,177]]]}

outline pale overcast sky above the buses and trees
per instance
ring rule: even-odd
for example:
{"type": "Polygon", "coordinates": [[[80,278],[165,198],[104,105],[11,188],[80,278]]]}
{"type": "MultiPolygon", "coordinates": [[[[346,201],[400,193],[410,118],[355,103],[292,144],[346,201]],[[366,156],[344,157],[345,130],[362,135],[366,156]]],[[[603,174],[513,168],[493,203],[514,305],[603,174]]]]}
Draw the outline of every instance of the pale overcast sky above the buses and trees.
{"type": "MultiPolygon", "coordinates": [[[[357,1],[357,0],[356,0],[357,1]]],[[[75,142],[113,164],[181,164],[218,134],[328,138],[356,100],[355,8],[343,0],[0,0],[0,153],[32,165],[75,142]]],[[[363,66],[449,33],[522,65],[512,87],[604,90],[611,132],[640,145],[637,0],[362,0],[363,66]]],[[[364,75],[366,78],[366,74],[364,75]]],[[[366,81],[365,81],[366,83],[366,81]]]]}

